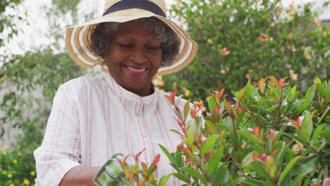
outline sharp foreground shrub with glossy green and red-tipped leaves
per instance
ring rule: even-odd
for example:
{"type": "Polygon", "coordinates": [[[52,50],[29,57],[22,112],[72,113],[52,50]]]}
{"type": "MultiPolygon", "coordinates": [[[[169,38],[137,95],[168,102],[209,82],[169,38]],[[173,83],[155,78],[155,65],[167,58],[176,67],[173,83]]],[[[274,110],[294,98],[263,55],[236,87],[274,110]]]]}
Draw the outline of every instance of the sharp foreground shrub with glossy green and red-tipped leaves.
{"type": "Polygon", "coordinates": [[[274,76],[247,83],[227,99],[224,89],[183,112],[175,92],[167,98],[177,114],[182,143],[170,154],[188,185],[313,185],[328,179],[330,165],[330,80],[314,80],[305,97],[297,85],[274,76]],[[187,120],[188,113],[193,120],[187,120]]]}

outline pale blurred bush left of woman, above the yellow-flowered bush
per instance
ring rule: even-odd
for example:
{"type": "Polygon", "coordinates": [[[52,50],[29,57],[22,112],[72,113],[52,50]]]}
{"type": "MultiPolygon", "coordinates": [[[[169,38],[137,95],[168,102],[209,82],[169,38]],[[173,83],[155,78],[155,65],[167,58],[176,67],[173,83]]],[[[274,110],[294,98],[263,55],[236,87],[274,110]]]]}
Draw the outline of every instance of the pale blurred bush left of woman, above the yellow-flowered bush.
{"type": "Polygon", "coordinates": [[[5,128],[21,127],[27,120],[46,123],[56,89],[84,72],[68,54],[54,54],[50,49],[13,56],[2,69],[0,87],[8,92],[0,106],[4,113],[1,136],[5,128]]]}

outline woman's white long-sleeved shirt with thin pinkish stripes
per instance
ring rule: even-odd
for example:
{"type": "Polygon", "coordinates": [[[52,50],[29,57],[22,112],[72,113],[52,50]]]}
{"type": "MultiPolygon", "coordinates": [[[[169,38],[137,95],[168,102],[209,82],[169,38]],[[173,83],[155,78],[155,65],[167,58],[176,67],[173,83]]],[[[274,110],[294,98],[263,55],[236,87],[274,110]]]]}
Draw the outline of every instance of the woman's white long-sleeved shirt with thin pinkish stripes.
{"type": "MultiPolygon", "coordinates": [[[[75,166],[103,166],[116,153],[137,154],[140,161],[161,161],[156,171],[174,172],[158,144],[169,151],[180,142],[175,114],[166,93],[140,97],[123,89],[109,75],[79,77],[59,87],[42,145],[34,151],[37,185],[59,185],[75,166]]],[[[179,105],[183,108],[185,100],[179,105]]],[[[179,185],[171,178],[168,185],[179,185]]]]}

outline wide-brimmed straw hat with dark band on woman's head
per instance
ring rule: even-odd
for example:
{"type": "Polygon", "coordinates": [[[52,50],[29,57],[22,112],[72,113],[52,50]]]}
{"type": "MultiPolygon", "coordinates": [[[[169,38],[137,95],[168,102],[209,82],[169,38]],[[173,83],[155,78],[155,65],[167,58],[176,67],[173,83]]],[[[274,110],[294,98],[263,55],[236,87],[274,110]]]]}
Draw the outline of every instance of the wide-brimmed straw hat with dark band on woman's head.
{"type": "Polygon", "coordinates": [[[179,42],[179,52],[171,66],[162,66],[157,75],[175,73],[193,61],[197,54],[197,44],[181,27],[166,18],[166,4],[164,0],[106,0],[103,16],[90,20],[81,25],[68,27],[66,46],[71,58],[83,68],[102,66],[102,70],[109,73],[106,63],[92,51],[91,35],[98,23],[124,23],[139,18],[156,17],[168,25],[179,42]]]}

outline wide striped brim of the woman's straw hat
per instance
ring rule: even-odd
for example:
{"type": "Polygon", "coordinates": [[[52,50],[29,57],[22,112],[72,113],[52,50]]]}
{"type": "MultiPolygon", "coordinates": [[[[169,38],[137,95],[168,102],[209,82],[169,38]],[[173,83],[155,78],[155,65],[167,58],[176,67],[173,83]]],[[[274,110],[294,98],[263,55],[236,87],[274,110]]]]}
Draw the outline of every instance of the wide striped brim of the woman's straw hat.
{"type": "Polygon", "coordinates": [[[78,65],[82,66],[83,68],[93,68],[96,65],[100,65],[102,66],[102,70],[105,73],[109,73],[106,63],[103,63],[102,58],[95,54],[91,48],[90,37],[92,32],[94,32],[97,24],[106,22],[124,23],[130,20],[149,17],[159,18],[159,20],[168,25],[173,30],[173,32],[176,33],[176,37],[178,38],[179,42],[179,52],[176,58],[173,60],[171,66],[161,66],[157,75],[176,73],[188,66],[188,64],[193,61],[193,58],[197,54],[196,42],[190,38],[185,30],[176,25],[176,23],[173,21],[138,8],[117,11],[115,13],[102,16],[101,18],[90,20],[89,22],[83,23],[81,25],[68,27],[66,34],[66,47],[68,54],[71,56],[71,58],[73,58],[75,63],[78,63],[78,65]]]}

